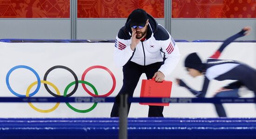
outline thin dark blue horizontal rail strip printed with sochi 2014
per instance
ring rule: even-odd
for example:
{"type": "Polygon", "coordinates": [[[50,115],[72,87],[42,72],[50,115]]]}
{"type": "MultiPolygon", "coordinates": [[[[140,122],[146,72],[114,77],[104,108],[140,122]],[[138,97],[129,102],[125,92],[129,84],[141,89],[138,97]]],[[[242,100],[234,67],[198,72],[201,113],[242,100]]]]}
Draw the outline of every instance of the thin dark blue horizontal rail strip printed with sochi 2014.
{"type": "MultiPolygon", "coordinates": [[[[118,97],[0,97],[0,102],[115,102],[118,97]]],[[[214,97],[214,98],[153,98],[153,97],[129,97],[128,102],[152,102],[152,103],[256,103],[256,98],[234,98],[234,97],[214,97]]]]}

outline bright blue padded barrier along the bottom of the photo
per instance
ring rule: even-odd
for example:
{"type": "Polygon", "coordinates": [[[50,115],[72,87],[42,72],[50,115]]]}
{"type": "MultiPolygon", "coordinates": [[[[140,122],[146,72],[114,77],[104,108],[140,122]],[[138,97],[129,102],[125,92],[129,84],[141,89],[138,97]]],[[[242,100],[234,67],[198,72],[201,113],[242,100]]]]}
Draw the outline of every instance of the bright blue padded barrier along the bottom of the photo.
{"type": "MultiPolygon", "coordinates": [[[[0,119],[0,139],[117,139],[118,118],[0,119]]],[[[255,118],[128,118],[128,139],[256,139],[255,118]]]]}

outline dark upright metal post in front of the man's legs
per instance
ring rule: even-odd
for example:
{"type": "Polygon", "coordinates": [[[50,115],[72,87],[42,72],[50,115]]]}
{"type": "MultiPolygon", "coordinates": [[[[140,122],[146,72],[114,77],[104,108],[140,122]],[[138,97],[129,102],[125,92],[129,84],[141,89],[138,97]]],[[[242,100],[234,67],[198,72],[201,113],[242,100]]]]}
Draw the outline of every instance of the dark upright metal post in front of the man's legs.
{"type": "Polygon", "coordinates": [[[128,115],[128,95],[120,95],[119,105],[119,139],[127,139],[127,115],[128,115]]]}

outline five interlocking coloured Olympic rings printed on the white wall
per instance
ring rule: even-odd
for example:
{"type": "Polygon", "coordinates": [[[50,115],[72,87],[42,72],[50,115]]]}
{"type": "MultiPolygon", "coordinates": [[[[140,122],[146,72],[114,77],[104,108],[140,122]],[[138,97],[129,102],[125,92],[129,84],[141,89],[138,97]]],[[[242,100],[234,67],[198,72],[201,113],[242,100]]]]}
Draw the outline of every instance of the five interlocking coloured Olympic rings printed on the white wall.
{"type": "MultiPolygon", "coordinates": [[[[54,66],[54,67],[48,69],[48,70],[46,71],[45,75],[44,75],[44,80],[40,80],[40,77],[39,77],[38,73],[37,73],[34,69],[32,69],[31,67],[28,67],[28,66],[24,66],[24,65],[18,65],[18,66],[13,67],[12,69],[10,69],[10,70],[8,71],[7,76],[6,76],[7,88],[10,90],[11,93],[13,93],[13,95],[16,95],[16,96],[18,96],[18,97],[31,97],[31,96],[35,95],[35,94],[39,91],[39,89],[40,89],[40,84],[41,84],[41,83],[44,83],[44,86],[45,86],[47,92],[48,92],[49,94],[55,96],[55,97],[69,97],[69,96],[71,96],[71,95],[74,95],[74,93],[76,92],[76,90],[77,90],[77,88],[78,88],[78,83],[82,83],[82,87],[84,88],[84,90],[85,90],[89,95],[91,95],[91,96],[94,96],[94,97],[97,97],[97,96],[107,97],[107,96],[111,95],[111,94],[114,92],[115,83],[116,83],[116,82],[115,82],[115,76],[113,75],[113,73],[112,73],[108,68],[103,67],[103,66],[98,66],[98,65],[97,65],[97,66],[92,66],[92,67],[89,67],[88,69],[86,69],[86,70],[83,72],[83,74],[82,74],[81,80],[79,80],[79,81],[78,81],[78,78],[77,78],[76,74],[74,73],[74,71],[73,71],[72,69],[69,69],[69,68],[67,68],[67,67],[65,67],[65,66],[60,66],[60,65],[54,66]],[[31,84],[28,86],[27,91],[26,91],[26,95],[20,95],[19,93],[16,93],[15,91],[13,91],[13,89],[12,89],[11,86],[10,86],[10,82],[9,82],[10,74],[11,74],[15,69],[20,69],[20,68],[28,69],[28,70],[32,71],[32,72],[35,74],[36,78],[37,78],[37,81],[31,83],[31,84]],[[112,77],[113,86],[112,86],[111,90],[110,90],[107,94],[105,94],[105,95],[98,95],[98,92],[97,92],[96,88],[95,88],[91,83],[84,81],[85,75],[88,73],[88,71],[91,70],[91,69],[96,69],[96,68],[107,70],[108,73],[110,74],[110,76],[112,77]],[[67,87],[66,87],[65,90],[64,90],[64,94],[63,94],[63,95],[60,94],[60,90],[59,90],[52,82],[48,82],[48,81],[47,81],[47,76],[48,76],[48,74],[50,73],[50,71],[52,71],[53,69],[66,69],[67,71],[69,71],[69,72],[74,76],[74,80],[75,80],[75,81],[74,81],[74,82],[71,82],[71,83],[69,83],[69,84],[67,85],[67,87]],[[36,89],[34,90],[34,92],[32,92],[31,94],[29,94],[30,89],[31,89],[34,85],[36,85],[36,84],[37,84],[37,87],[36,87],[36,89]],[[54,92],[52,92],[52,91],[48,88],[47,84],[50,85],[50,86],[52,86],[52,87],[54,88],[54,90],[56,91],[57,94],[54,94],[54,92]],[[69,89],[72,85],[74,85],[74,84],[75,84],[74,89],[73,89],[69,94],[67,94],[68,89],[69,89]],[[88,86],[90,86],[90,87],[94,90],[94,94],[91,93],[91,92],[86,88],[85,84],[87,84],[88,86]]],[[[60,103],[58,102],[53,108],[50,108],[50,109],[47,109],[47,110],[42,110],[42,109],[40,109],[40,108],[37,108],[37,107],[35,107],[32,103],[28,103],[28,104],[29,104],[30,107],[32,107],[34,110],[36,110],[36,111],[38,111],[38,112],[41,112],[41,113],[49,113],[49,112],[54,111],[54,110],[59,106],[60,103]]],[[[85,109],[85,110],[80,110],[80,109],[77,109],[77,108],[71,106],[68,102],[67,102],[66,104],[67,104],[67,106],[68,106],[69,108],[71,108],[72,110],[74,110],[75,112],[78,112],[78,113],[88,113],[88,112],[92,111],[92,110],[96,107],[96,105],[97,105],[97,103],[95,102],[92,107],[90,107],[90,108],[88,108],[88,109],[85,109]]]]}

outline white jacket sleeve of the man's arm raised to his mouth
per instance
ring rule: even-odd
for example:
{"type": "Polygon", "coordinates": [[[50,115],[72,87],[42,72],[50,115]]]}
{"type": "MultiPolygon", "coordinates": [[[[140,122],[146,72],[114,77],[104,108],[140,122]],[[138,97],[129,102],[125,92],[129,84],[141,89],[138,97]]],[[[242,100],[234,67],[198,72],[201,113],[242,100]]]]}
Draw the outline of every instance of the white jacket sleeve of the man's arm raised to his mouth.
{"type": "Polygon", "coordinates": [[[133,52],[129,40],[124,40],[116,36],[115,39],[115,51],[114,51],[114,62],[117,66],[124,66],[128,60],[132,57],[133,52]]]}

